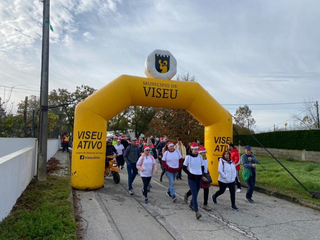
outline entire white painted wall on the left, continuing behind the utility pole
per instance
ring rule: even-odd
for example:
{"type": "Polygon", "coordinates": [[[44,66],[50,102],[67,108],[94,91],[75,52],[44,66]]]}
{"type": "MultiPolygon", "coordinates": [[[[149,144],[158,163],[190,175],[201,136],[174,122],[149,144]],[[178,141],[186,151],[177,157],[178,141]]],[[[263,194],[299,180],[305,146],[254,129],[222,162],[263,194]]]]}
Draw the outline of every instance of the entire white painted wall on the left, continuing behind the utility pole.
{"type": "MultiPolygon", "coordinates": [[[[0,222],[36,175],[37,144],[36,138],[0,138],[0,222]]],[[[59,148],[59,139],[48,139],[47,161],[59,148]]]]}

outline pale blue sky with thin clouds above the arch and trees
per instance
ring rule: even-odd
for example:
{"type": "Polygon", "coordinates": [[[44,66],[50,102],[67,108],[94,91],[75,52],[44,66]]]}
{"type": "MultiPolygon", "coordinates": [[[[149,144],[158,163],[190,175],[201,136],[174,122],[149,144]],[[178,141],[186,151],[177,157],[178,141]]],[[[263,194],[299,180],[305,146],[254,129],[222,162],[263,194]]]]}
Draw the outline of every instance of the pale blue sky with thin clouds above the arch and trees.
{"type": "MultiPolygon", "coordinates": [[[[42,11],[38,1],[0,2],[0,96],[4,86],[28,89],[14,89],[16,104],[39,94],[42,11]]],[[[319,16],[316,0],[52,0],[49,91],[145,76],[146,57],[163,49],[231,114],[241,104],[320,100],[319,16]]],[[[300,105],[249,107],[261,129],[300,105]]]]}

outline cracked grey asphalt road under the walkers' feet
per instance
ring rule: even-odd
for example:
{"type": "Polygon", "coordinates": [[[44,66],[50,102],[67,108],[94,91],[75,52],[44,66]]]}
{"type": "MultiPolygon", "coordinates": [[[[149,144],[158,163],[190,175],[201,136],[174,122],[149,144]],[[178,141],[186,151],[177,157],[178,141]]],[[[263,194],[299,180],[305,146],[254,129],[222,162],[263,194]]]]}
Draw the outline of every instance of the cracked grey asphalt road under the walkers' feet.
{"type": "MultiPolygon", "coordinates": [[[[320,212],[307,207],[257,192],[252,197],[255,202],[249,204],[242,188],[236,193],[236,212],[230,208],[228,191],[217,198],[218,204],[212,203],[211,195],[218,187],[211,186],[208,205],[212,211],[199,208],[203,217],[196,220],[195,212],[183,201],[188,191],[186,174],[182,181],[175,181],[178,200],[173,203],[166,195],[168,179],[164,176],[160,182],[160,174],[154,173],[148,204],[141,194],[140,175],[133,182],[133,196],[128,192],[127,176],[124,168],[119,184],[106,178],[104,188],[76,190],[82,205],[80,215],[88,222],[81,223],[86,229],[84,239],[320,239],[320,212]]],[[[198,204],[203,204],[202,189],[198,204]]]]}

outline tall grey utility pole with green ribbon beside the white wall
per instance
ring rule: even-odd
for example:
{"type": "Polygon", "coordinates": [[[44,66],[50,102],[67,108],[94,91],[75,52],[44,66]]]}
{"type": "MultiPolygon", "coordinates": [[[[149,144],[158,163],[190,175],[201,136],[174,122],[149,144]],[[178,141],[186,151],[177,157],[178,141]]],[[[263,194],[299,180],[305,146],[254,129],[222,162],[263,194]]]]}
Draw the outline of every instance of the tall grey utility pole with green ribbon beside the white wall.
{"type": "Polygon", "coordinates": [[[43,0],[38,181],[47,180],[50,0],[43,0]]]}

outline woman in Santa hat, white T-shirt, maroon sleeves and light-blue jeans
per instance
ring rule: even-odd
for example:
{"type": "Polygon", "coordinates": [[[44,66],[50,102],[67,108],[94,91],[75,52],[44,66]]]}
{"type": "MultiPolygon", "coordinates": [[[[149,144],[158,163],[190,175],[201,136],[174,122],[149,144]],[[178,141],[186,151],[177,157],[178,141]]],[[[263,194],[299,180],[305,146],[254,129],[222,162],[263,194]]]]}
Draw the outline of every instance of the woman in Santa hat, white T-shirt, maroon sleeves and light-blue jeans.
{"type": "Polygon", "coordinates": [[[167,195],[172,198],[172,202],[177,201],[174,192],[174,180],[176,179],[179,168],[182,166],[182,156],[179,150],[174,149],[173,142],[168,142],[168,151],[165,151],[162,156],[162,165],[165,168],[169,180],[167,195]]]}

